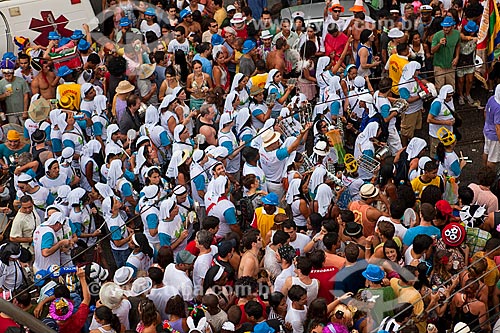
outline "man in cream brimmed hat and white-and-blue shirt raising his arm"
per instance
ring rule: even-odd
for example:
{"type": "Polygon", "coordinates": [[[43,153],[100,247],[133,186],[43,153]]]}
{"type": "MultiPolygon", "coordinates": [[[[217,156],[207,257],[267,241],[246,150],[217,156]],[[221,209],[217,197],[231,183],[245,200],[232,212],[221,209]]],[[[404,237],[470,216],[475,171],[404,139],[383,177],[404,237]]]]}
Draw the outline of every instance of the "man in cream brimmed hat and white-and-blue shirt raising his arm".
{"type": "Polygon", "coordinates": [[[262,133],[262,147],[260,148],[260,157],[262,170],[266,174],[267,189],[269,192],[274,192],[281,199],[284,195],[282,185],[283,170],[286,166],[287,157],[297,150],[301,142],[307,139],[307,134],[311,124],[307,124],[297,136],[295,141],[287,148],[282,148],[280,143],[280,134],[272,129],[262,133]]]}

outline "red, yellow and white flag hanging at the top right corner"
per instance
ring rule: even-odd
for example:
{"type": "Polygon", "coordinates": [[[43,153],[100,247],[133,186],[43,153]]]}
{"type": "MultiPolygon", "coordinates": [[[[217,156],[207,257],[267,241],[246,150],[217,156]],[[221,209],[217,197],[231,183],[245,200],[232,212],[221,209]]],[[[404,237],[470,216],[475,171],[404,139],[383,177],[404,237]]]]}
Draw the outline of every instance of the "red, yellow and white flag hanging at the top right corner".
{"type": "Polygon", "coordinates": [[[484,62],[500,55],[500,16],[495,0],[487,0],[479,25],[477,53],[484,62]]]}

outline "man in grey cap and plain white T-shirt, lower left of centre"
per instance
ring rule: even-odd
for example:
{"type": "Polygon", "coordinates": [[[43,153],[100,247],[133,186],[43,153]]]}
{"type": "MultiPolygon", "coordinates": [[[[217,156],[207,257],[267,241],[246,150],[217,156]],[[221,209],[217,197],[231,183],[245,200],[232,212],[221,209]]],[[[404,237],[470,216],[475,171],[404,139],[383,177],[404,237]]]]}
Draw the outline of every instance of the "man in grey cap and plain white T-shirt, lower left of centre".
{"type": "Polygon", "coordinates": [[[196,259],[186,250],[179,251],[175,257],[175,263],[171,263],[165,268],[163,284],[174,286],[185,302],[193,300],[193,282],[189,278],[189,271],[193,269],[196,259]]]}

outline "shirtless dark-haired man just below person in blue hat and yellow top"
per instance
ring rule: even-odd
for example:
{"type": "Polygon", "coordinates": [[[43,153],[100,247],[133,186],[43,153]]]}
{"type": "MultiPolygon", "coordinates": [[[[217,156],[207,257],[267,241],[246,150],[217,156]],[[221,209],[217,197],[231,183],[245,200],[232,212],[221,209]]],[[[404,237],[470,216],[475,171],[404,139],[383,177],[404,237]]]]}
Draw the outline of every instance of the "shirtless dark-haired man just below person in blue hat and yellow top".
{"type": "Polygon", "coordinates": [[[260,231],[256,229],[248,230],[242,239],[245,253],[241,257],[240,267],[238,269],[238,278],[242,276],[251,276],[253,278],[259,277],[260,262],[259,251],[262,248],[262,238],[260,231]]]}

